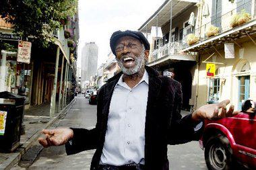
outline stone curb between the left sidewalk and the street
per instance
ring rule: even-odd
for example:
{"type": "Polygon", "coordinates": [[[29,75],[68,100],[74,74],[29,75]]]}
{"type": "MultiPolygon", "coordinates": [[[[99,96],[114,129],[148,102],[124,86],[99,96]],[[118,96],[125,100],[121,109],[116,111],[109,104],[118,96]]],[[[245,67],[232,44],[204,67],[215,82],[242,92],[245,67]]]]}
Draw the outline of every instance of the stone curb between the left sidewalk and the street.
{"type": "MultiPolygon", "coordinates": [[[[73,106],[73,103],[75,103],[75,98],[68,104],[65,106],[65,108],[63,108],[63,110],[61,110],[61,112],[59,112],[57,114],[57,116],[55,116],[54,118],[52,118],[45,126],[44,128],[49,128],[52,124],[54,124],[59,118],[60,116],[64,113],[64,112],[69,112],[70,108],[73,106]]],[[[24,142],[23,144],[21,144],[19,146],[19,148],[17,148],[17,153],[11,153],[11,156],[6,159],[1,165],[0,165],[0,170],[9,170],[11,169],[11,167],[13,167],[13,165],[15,165],[16,163],[18,163],[20,161],[20,159],[22,158],[22,155],[24,155],[26,153],[26,151],[28,151],[28,149],[32,146],[32,143],[34,141],[36,141],[39,137],[41,136],[41,130],[38,130],[35,134],[33,134],[30,139],[28,139],[26,142],[24,142]]]]}

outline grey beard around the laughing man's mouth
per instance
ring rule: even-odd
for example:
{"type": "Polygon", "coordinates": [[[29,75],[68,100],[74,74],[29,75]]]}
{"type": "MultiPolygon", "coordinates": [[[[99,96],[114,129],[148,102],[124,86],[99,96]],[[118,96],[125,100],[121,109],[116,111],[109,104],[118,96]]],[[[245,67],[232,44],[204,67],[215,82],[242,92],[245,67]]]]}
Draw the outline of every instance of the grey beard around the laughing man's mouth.
{"type": "Polygon", "coordinates": [[[119,67],[123,71],[123,74],[125,74],[125,75],[133,75],[135,73],[138,73],[142,67],[145,67],[145,63],[146,63],[145,50],[142,50],[142,52],[141,52],[141,54],[139,54],[139,56],[134,57],[131,54],[127,54],[127,55],[123,55],[120,58],[120,60],[117,59],[117,64],[119,65],[119,67]],[[135,67],[127,69],[123,66],[122,60],[123,60],[123,58],[128,57],[128,56],[134,58],[135,67]]]}

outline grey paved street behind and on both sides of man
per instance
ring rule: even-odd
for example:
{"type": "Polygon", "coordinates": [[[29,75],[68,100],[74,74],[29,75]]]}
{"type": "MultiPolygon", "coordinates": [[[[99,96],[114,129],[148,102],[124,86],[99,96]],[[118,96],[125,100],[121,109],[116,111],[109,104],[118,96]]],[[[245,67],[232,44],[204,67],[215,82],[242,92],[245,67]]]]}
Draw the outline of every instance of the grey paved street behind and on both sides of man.
{"type": "MultiPolygon", "coordinates": [[[[69,113],[54,126],[93,128],[96,124],[96,105],[89,105],[88,99],[79,95],[69,113]]],[[[36,161],[27,169],[90,169],[92,151],[84,151],[67,156],[64,146],[52,146],[42,149],[36,161]]],[[[204,169],[203,151],[196,141],[176,146],[168,146],[170,169],[204,169]]],[[[12,168],[26,169],[16,165],[12,168]]]]}

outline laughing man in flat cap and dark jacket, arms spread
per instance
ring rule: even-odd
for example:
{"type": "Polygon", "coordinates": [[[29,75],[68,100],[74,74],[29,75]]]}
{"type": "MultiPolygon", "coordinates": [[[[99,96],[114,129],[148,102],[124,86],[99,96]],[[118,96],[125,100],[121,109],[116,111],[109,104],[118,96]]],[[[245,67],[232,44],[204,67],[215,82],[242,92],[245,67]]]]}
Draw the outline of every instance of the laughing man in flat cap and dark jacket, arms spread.
{"type": "Polygon", "coordinates": [[[226,112],[226,100],[181,118],[181,84],[146,67],[145,36],[117,31],[110,47],[122,72],[98,91],[96,128],[42,130],[40,144],[65,144],[68,155],[96,148],[91,169],[167,170],[167,144],[198,140],[203,119],[236,114],[233,105],[226,112]]]}

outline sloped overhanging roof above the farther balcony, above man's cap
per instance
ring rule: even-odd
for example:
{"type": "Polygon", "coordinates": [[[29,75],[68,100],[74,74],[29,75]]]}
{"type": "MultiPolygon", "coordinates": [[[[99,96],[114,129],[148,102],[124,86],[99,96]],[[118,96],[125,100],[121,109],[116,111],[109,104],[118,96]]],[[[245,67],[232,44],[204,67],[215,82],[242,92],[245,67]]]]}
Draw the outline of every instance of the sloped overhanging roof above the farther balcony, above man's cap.
{"type": "Polygon", "coordinates": [[[180,13],[183,13],[185,9],[191,7],[191,5],[195,5],[195,3],[199,2],[199,0],[166,0],[164,3],[158,8],[158,10],[138,29],[140,32],[151,32],[151,27],[156,26],[156,22],[158,22],[158,26],[163,26],[166,22],[170,21],[170,8],[172,1],[172,18],[177,17],[180,13]],[[158,21],[157,20],[158,15],[158,21]]]}

